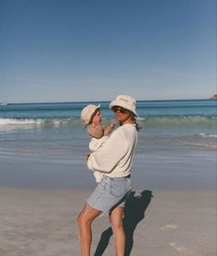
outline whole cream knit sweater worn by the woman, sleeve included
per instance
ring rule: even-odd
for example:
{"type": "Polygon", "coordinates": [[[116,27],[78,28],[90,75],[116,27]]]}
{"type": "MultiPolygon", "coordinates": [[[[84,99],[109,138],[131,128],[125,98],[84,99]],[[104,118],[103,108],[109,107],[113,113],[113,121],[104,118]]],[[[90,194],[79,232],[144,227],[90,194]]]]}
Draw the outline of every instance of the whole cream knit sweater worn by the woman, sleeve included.
{"type": "Polygon", "coordinates": [[[104,172],[109,177],[125,177],[131,173],[131,163],[137,144],[134,124],[117,128],[105,144],[92,153],[87,161],[88,169],[104,172]]]}

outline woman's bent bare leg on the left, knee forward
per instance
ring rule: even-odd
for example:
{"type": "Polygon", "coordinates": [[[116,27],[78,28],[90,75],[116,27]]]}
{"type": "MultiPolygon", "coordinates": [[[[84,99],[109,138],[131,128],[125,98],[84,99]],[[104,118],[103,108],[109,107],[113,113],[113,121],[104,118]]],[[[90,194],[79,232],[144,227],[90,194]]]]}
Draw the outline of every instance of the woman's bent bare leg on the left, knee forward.
{"type": "Polygon", "coordinates": [[[90,255],[90,247],[92,241],[92,230],[91,223],[100,215],[101,212],[92,208],[90,205],[86,204],[80,214],[77,216],[79,233],[80,233],[80,246],[81,246],[81,256],[90,255]]]}

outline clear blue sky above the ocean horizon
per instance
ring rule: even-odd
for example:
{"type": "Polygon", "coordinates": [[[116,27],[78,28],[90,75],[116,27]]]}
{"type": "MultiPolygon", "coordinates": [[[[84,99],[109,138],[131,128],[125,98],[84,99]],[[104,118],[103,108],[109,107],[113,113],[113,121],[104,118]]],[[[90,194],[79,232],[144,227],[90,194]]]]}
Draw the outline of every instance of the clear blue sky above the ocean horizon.
{"type": "Polygon", "coordinates": [[[0,0],[0,102],[206,99],[215,0],[0,0]]]}

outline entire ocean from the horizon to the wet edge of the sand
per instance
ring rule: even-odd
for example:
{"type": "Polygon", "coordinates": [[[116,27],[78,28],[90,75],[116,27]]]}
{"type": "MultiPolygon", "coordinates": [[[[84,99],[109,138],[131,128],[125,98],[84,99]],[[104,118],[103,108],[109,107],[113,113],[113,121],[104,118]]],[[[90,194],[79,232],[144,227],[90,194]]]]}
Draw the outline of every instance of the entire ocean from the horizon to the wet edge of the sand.
{"type": "MultiPolygon", "coordinates": [[[[90,103],[0,106],[0,186],[89,189],[89,138],[80,121],[90,103]]],[[[113,121],[109,102],[103,122],[113,121]]],[[[140,100],[142,126],[132,166],[135,186],[158,190],[215,190],[217,101],[140,100]]]]}

